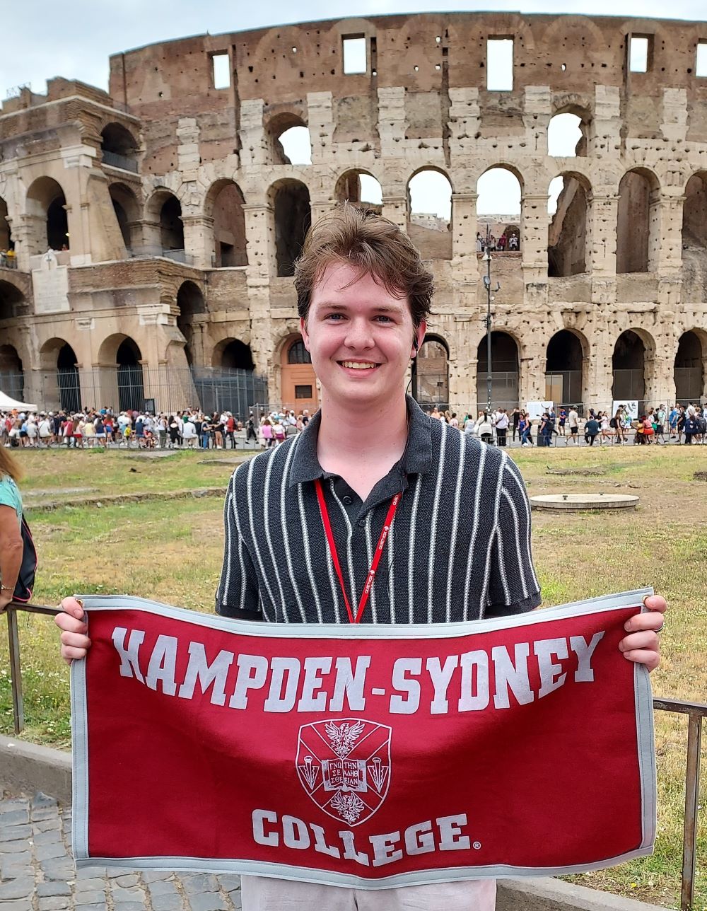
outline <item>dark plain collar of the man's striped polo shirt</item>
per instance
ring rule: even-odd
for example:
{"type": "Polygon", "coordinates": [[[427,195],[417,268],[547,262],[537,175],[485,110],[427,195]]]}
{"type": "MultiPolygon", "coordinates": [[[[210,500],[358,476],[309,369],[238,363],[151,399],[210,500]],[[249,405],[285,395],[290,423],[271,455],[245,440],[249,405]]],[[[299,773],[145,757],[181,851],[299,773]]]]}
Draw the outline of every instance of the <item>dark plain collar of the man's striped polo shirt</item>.
{"type": "MultiPolygon", "coordinates": [[[[398,463],[405,475],[426,475],[432,470],[432,418],[410,395],[405,396],[407,404],[408,433],[405,452],[398,463]]],[[[304,484],[318,477],[329,476],[317,458],[317,439],[322,423],[322,412],[318,411],[299,435],[290,468],[289,486],[304,484]]]]}

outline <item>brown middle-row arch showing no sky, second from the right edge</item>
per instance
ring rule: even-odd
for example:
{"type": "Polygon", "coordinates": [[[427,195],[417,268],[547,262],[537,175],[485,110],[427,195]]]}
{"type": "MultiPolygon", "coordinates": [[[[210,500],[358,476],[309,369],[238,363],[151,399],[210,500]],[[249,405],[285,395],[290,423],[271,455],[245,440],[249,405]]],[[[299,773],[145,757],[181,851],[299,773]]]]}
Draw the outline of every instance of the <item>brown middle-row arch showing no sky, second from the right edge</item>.
{"type": "Polygon", "coordinates": [[[660,229],[658,184],[647,171],[634,169],[619,184],[616,228],[616,271],[651,271],[660,229]]]}

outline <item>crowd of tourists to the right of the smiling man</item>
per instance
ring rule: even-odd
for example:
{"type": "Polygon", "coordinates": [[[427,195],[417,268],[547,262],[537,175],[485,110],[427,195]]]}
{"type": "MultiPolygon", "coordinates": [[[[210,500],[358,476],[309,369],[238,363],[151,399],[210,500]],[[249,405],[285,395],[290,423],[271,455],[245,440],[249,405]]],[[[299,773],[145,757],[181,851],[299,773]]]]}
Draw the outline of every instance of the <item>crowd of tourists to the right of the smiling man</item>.
{"type": "Polygon", "coordinates": [[[707,443],[707,406],[699,404],[674,404],[670,410],[662,404],[649,408],[645,414],[631,417],[625,405],[612,414],[589,408],[586,417],[579,415],[571,405],[557,410],[548,408],[535,419],[528,411],[514,408],[497,408],[495,411],[467,413],[460,422],[456,412],[434,408],[433,417],[459,427],[465,434],[474,434],[484,443],[505,446],[516,441],[521,446],[580,445],[683,445],[707,443]],[[535,430],[535,439],[533,431],[535,430]]]}

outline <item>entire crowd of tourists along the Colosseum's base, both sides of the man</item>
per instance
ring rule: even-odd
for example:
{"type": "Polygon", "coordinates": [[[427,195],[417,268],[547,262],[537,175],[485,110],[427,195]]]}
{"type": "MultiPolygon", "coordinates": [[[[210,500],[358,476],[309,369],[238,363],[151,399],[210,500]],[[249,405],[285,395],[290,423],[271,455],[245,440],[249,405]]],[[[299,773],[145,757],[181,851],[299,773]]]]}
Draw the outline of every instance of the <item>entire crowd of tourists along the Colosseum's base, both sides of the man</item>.
{"type": "MultiPolygon", "coordinates": [[[[460,419],[456,412],[428,413],[446,424],[473,434],[487,444],[565,445],[682,445],[707,443],[707,407],[675,404],[670,410],[659,405],[632,418],[621,405],[610,411],[589,408],[580,416],[575,406],[549,408],[533,417],[526,410],[497,408],[467,412],[460,419]]],[[[230,411],[204,414],[186,409],[173,414],[152,415],[110,408],[87,409],[80,414],[56,412],[0,413],[0,445],[27,448],[65,446],[90,449],[97,446],[140,449],[234,449],[271,448],[289,436],[300,433],[310,420],[305,409],[252,413],[241,421],[230,411]]]]}

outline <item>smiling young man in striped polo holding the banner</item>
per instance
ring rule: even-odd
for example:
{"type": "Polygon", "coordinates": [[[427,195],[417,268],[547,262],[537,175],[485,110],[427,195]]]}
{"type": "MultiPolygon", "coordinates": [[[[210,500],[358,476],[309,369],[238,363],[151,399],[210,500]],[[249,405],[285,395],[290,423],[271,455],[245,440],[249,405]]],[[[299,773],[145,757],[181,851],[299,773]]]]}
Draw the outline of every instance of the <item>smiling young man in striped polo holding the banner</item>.
{"type": "MultiPolygon", "coordinates": [[[[310,231],[295,286],[322,408],[300,435],[231,477],[217,610],[266,622],[347,623],[361,611],[364,623],[444,623],[537,607],[530,511],[517,467],[505,451],[459,434],[405,398],[433,290],[406,235],[346,207],[310,231]],[[395,502],[365,599],[374,548],[395,502]]],[[[665,602],[649,603],[651,612],[630,621],[621,649],[655,667],[653,630],[665,602]]],[[[80,605],[65,599],[63,607],[62,653],[82,658],[90,643],[80,605]]],[[[495,896],[493,880],[356,891],[242,877],[244,911],[491,911],[495,896]]]]}

